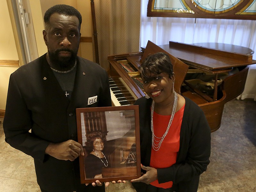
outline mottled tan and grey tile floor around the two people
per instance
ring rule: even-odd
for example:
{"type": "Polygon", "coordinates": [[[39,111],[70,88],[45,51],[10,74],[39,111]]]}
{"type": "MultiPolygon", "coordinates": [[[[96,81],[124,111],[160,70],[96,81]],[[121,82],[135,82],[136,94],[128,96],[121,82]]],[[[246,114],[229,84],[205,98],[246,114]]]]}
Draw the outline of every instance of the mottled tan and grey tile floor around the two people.
{"type": "MultiPolygon", "coordinates": [[[[255,117],[256,101],[231,100],[225,104],[221,127],[212,133],[211,163],[201,175],[198,192],[256,192],[255,117]]],[[[5,143],[2,123],[0,191],[40,192],[32,157],[5,143]]],[[[111,184],[106,191],[135,190],[128,182],[111,184]]]]}

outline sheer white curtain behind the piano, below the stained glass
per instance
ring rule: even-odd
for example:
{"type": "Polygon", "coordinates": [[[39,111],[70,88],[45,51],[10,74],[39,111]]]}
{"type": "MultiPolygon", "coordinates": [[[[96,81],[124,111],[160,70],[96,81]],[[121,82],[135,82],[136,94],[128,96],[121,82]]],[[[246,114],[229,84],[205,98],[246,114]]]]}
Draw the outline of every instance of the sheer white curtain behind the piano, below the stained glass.
{"type": "MultiPolygon", "coordinates": [[[[203,18],[147,17],[148,0],[141,0],[140,46],[148,40],[155,44],[226,43],[248,47],[256,52],[256,20],[228,20],[203,18]]],[[[252,56],[256,60],[256,53],[252,56]]],[[[241,99],[256,100],[256,64],[251,65],[241,99]],[[252,82],[254,81],[254,82],[252,82]],[[255,88],[254,88],[255,87],[255,88]],[[244,95],[244,96],[243,96],[244,95]],[[246,95],[246,96],[245,96],[246,95]]]]}

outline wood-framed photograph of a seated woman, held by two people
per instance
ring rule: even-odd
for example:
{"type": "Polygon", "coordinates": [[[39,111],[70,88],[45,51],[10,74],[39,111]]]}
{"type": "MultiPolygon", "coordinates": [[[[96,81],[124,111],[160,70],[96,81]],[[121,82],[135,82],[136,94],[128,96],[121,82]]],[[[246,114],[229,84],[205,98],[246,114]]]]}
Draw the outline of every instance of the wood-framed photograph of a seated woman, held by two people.
{"type": "Polygon", "coordinates": [[[77,108],[81,183],[141,176],[139,106],[77,108]]]}

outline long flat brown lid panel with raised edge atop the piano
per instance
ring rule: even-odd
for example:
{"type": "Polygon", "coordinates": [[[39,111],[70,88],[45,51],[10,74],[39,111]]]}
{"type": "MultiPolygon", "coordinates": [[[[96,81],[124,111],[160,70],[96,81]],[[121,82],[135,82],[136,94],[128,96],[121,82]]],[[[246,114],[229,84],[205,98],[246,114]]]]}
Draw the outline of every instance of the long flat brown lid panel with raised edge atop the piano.
{"type": "Polygon", "coordinates": [[[199,45],[170,41],[169,44],[158,46],[183,62],[189,63],[190,66],[212,74],[256,63],[256,60],[252,60],[252,55],[221,51],[199,45]]]}

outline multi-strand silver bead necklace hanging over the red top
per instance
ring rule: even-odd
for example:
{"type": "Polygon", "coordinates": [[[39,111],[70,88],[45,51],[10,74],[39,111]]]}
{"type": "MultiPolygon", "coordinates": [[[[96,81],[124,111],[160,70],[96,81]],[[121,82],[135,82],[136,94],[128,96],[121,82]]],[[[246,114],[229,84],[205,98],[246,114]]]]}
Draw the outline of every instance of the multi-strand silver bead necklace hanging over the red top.
{"type": "Polygon", "coordinates": [[[168,123],[167,129],[164,132],[162,137],[156,137],[156,135],[154,133],[154,126],[153,126],[153,114],[154,114],[155,101],[153,100],[153,102],[152,102],[152,106],[151,106],[151,131],[152,131],[152,147],[155,151],[158,151],[160,149],[161,144],[162,144],[165,136],[167,135],[167,133],[168,133],[170,127],[171,127],[172,120],[173,120],[173,117],[174,117],[174,114],[175,114],[175,111],[176,111],[176,108],[177,108],[177,104],[178,104],[178,95],[177,95],[176,92],[174,92],[174,102],[173,102],[173,107],[172,107],[172,115],[171,115],[170,121],[168,123]]]}

